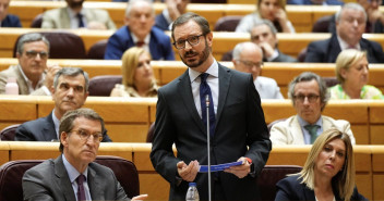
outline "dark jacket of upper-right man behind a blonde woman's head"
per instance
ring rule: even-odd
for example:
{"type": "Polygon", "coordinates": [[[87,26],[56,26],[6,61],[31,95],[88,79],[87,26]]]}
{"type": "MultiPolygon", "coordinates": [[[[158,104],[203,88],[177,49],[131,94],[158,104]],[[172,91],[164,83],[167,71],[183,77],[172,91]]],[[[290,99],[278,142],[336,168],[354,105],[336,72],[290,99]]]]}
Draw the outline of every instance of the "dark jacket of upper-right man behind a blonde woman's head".
{"type": "MultiPolygon", "coordinates": [[[[384,63],[384,52],[380,43],[361,38],[360,47],[361,50],[367,51],[369,63],[384,63]]],[[[308,46],[304,62],[335,63],[340,51],[341,48],[337,36],[336,34],[332,34],[329,39],[313,41],[308,46]]]]}

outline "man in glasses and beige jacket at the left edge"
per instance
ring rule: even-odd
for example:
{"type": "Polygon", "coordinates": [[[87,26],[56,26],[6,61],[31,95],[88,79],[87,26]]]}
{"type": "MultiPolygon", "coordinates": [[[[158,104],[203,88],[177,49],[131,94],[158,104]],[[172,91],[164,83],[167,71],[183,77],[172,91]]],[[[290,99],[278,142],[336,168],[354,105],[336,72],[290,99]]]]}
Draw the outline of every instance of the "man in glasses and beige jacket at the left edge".
{"type": "Polygon", "coordinates": [[[19,95],[50,95],[55,73],[59,66],[47,66],[49,41],[40,34],[22,36],[16,46],[17,65],[0,72],[0,93],[5,92],[9,78],[15,78],[19,95]]]}

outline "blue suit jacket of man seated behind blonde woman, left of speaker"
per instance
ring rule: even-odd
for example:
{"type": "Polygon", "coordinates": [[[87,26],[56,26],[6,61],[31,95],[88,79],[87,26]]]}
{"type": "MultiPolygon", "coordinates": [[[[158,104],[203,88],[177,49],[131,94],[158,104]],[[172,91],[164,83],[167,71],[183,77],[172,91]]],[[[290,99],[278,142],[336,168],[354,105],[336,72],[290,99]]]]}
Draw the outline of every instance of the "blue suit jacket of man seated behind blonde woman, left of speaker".
{"type": "MultiPolygon", "coordinates": [[[[119,28],[109,39],[104,54],[106,60],[120,60],[129,48],[135,46],[128,26],[119,28]]],[[[175,60],[169,36],[157,27],[152,27],[149,52],[153,60],[175,60]]]]}

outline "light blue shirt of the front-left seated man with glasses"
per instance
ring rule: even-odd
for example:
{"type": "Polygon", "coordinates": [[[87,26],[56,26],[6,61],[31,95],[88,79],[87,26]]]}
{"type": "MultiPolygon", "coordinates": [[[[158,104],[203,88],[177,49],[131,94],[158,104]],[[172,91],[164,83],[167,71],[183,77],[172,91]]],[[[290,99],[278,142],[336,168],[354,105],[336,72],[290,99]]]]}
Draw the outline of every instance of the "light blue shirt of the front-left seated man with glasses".
{"type": "MultiPolygon", "coordinates": [[[[80,173],[77,172],[76,168],[74,168],[70,162],[67,161],[64,154],[62,154],[62,162],[64,163],[64,167],[67,169],[68,176],[70,177],[74,197],[77,200],[77,183],[76,178],[79,177],[80,173]]],[[[88,187],[88,168],[85,168],[85,171],[82,173],[85,176],[85,181],[83,183],[84,186],[84,191],[85,191],[85,199],[86,200],[92,200],[91,198],[91,192],[89,192],[89,187],[88,187]]]]}

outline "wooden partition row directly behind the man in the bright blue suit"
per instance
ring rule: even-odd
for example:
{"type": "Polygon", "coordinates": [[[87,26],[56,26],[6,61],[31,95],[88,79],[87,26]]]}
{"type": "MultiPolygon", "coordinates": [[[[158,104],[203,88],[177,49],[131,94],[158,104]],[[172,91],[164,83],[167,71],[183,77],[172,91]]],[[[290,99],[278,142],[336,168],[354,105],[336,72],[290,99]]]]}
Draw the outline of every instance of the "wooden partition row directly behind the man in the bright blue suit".
{"type": "MultiPolygon", "coordinates": [[[[15,1],[16,2],[16,1],[15,1]]],[[[31,32],[41,32],[39,28],[1,28],[0,38],[2,39],[0,43],[0,58],[12,58],[13,48],[17,37],[25,33],[31,32]]],[[[43,32],[55,32],[53,29],[44,29],[43,32]]],[[[57,30],[56,30],[57,32],[57,30]]],[[[113,32],[112,30],[88,30],[88,29],[74,29],[74,30],[63,30],[71,32],[79,35],[85,45],[85,50],[95,45],[99,40],[108,39],[113,32]]],[[[167,33],[170,36],[170,33],[167,33]]],[[[281,52],[297,56],[300,51],[314,40],[327,39],[331,37],[331,34],[320,34],[320,33],[301,33],[301,34],[286,34],[278,33],[278,48],[281,52]]],[[[369,40],[374,40],[381,43],[384,47],[384,34],[364,34],[364,38],[369,40]]],[[[216,60],[220,61],[223,54],[232,50],[235,46],[239,42],[250,41],[250,35],[247,33],[220,33],[214,32],[214,45],[213,45],[213,54],[216,60]]],[[[175,54],[177,60],[179,55],[177,50],[175,54]]]]}

